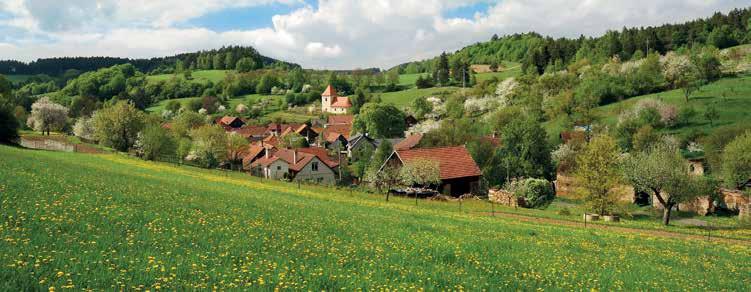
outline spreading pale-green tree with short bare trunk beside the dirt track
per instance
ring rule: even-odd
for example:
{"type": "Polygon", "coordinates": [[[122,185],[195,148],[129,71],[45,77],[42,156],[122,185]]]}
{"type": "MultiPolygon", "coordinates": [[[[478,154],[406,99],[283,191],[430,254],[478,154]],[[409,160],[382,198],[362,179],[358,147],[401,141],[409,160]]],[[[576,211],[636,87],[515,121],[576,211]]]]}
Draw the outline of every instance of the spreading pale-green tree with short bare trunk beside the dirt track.
{"type": "Polygon", "coordinates": [[[663,207],[665,225],[670,224],[670,214],[676,205],[693,200],[706,189],[688,169],[679,149],[668,143],[633,153],[623,163],[623,173],[634,189],[651,193],[663,207]]]}

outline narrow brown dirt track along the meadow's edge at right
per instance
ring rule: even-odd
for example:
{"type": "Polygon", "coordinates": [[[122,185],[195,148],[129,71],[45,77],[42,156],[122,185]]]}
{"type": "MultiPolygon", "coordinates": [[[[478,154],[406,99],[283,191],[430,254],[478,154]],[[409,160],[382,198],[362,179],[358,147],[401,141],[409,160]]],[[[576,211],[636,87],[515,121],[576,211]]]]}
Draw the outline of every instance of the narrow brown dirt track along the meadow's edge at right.
{"type": "MultiPolygon", "coordinates": [[[[560,220],[560,219],[541,218],[541,217],[534,217],[534,216],[528,216],[528,215],[498,212],[498,211],[496,211],[495,213],[476,212],[475,214],[479,214],[481,216],[493,216],[494,214],[496,217],[515,219],[515,220],[519,220],[522,222],[544,223],[544,224],[551,224],[551,225],[558,225],[558,226],[584,228],[584,222],[574,222],[574,221],[567,221],[567,220],[560,220]]],[[[631,227],[620,227],[620,226],[611,226],[611,225],[602,225],[602,224],[587,224],[587,229],[607,230],[607,231],[614,231],[614,232],[621,232],[621,233],[637,233],[637,234],[662,237],[662,238],[703,240],[703,241],[722,242],[722,243],[730,243],[730,244],[751,245],[750,240],[730,239],[730,238],[723,238],[723,237],[709,237],[708,238],[706,235],[685,234],[685,233],[662,231],[662,230],[638,229],[638,228],[631,228],[631,227]]]]}

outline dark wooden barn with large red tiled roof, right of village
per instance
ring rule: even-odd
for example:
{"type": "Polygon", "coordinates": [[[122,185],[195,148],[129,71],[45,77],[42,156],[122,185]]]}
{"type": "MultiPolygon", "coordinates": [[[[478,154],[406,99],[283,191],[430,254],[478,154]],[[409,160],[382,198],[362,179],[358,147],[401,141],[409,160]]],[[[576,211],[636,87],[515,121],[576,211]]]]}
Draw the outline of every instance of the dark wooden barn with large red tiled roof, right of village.
{"type": "Polygon", "coordinates": [[[482,172],[464,146],[395,150],[381,170],[387,165],[401,167],[417,160],[438,162],[441,193],[459,196],[478,189],[482,172]]]}

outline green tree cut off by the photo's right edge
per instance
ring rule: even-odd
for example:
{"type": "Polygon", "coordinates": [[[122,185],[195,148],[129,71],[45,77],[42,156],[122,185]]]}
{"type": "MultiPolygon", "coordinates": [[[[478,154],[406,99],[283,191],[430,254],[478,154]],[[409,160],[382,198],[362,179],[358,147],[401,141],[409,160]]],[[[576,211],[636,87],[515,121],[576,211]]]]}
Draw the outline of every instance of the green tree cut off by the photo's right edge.
{"type": "Polygon", "coordinates": [[[722,153],[722,176],[730,188],[740,188],[751,179],[751,131],[738,136],[722,153]]]}

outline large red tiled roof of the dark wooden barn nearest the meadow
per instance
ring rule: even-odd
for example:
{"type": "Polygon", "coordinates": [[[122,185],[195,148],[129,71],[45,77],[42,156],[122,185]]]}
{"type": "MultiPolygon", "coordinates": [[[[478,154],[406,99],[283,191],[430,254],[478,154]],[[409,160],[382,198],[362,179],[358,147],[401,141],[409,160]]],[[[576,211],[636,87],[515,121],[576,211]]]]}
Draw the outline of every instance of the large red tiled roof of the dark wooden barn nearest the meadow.
{"type": "Polygon", "coordinates": [[[464,146],[396,150],[396,154],[404,163],[418,159],[438,161],[442,180],[482,175],[464,146]]]}

